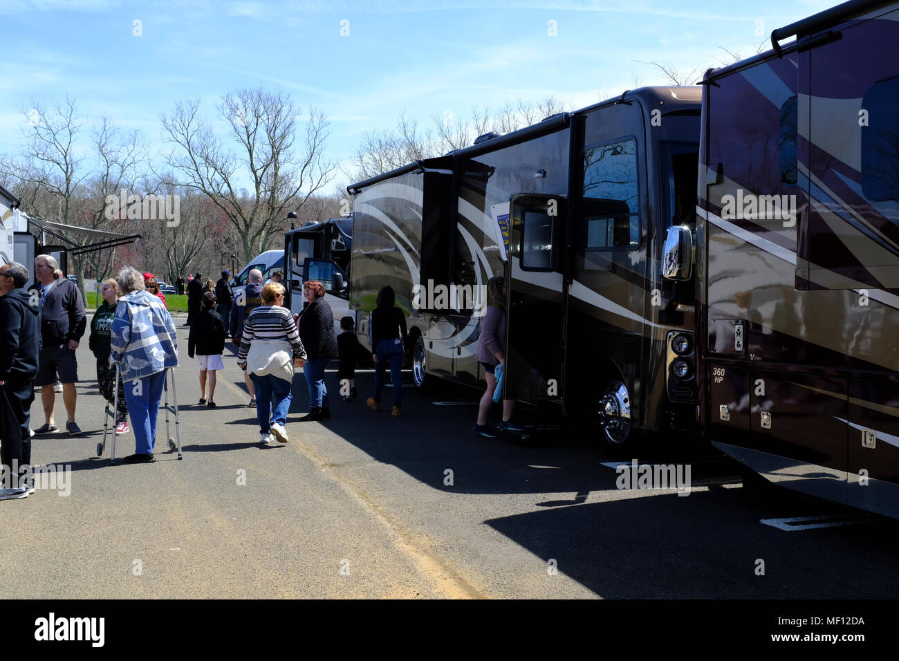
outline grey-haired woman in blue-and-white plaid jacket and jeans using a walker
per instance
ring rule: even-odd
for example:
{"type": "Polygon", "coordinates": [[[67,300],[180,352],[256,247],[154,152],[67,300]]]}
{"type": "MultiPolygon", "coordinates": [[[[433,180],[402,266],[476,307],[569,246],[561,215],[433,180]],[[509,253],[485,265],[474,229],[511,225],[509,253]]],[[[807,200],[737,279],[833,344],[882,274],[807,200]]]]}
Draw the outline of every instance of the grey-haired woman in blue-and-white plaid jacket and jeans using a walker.
{"type": "Polygon", "coordinates": [[[122,296],[112,320],[111,361],[120,364],[125,400],[134,431],[135,453],[129,463],[156,461],[156,421],[163,396],[165,371],[178,367],[178,337],[162,301],[144,290],[140,272],[125,266],[119,272],[122,296]]]}

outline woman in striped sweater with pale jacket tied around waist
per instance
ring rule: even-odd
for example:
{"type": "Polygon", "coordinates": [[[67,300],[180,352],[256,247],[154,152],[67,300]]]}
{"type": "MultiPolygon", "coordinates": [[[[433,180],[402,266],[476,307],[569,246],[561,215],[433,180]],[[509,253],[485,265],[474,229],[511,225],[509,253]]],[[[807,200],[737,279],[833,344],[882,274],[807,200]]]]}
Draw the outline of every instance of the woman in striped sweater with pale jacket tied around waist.
{"type": "MultiPolygon", "coordinates": [[[[262,280],[262,273],[259,279],[262,280]]],[[[288,442],[287,414],[295,367],[303,367],[307,353],[288,308],[282,307],[284,288],[275,282],[263,287],[263,305],[246,317],[237,364],[256,387],[259,442],[288,442]]]]}

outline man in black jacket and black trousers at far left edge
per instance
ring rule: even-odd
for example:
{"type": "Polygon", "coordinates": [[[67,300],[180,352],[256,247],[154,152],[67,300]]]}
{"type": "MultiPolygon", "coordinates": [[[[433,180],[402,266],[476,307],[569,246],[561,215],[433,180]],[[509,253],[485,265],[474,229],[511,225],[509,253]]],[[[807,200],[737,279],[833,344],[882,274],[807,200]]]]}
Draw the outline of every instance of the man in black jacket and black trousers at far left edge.
{"type": "Polygon", "coordinates": [[[33,492],[20,480],[31,465],[31,402],[40,349],[40,299],[24,290],[27,280],[22,264],[0,266],[0,500],[33,492]]]}

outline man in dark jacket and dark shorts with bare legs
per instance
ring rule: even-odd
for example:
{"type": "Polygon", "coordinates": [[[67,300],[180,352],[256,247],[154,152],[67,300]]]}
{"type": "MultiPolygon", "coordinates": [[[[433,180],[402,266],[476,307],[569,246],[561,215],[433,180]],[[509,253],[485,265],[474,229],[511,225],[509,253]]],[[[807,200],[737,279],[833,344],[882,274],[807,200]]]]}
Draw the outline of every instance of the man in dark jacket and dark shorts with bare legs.
{"type": "Polygon", "coordinates": [[[62,382],[62,398],[66,406],[66,429],[70,435],[81,433],[75,422],[78,362],[75,350],[85,335],[87,317],[85,301],[78,285],[64,277],[59,264],[51,255],[34,258],[34,272],[40,282],[40,358],[35,385],[40,386],[40,401],[44,408],[44,424],[34,433],[55,432],[53,409],[56,394],[53,383],[62,382]]]}

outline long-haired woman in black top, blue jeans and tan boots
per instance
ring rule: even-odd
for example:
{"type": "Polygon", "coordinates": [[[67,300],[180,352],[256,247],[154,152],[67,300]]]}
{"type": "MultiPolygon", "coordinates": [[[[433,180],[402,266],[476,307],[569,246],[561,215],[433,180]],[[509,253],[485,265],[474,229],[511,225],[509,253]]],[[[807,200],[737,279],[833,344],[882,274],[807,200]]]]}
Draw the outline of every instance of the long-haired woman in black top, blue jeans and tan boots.
{"type": "Polygon", "coordinates": [[[368,405],[378,411],[381,391],[384,389],[384,371],[390,368],[390,382],[394,390],[394,406],[391,415],[399,417],[403,406],[403,355],[409,344],[403,310],[396,307],[396,295],[390,285],[378,291],[376,308],[371,312],[371,346],[375,353],[375,396],[369,397],[368,405]],[[401,339],[402,338],[402,339],[401,339]]]}

